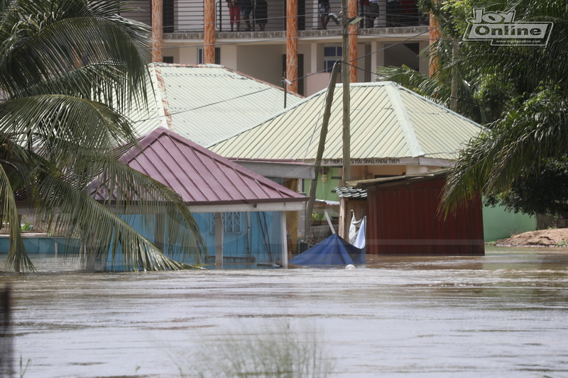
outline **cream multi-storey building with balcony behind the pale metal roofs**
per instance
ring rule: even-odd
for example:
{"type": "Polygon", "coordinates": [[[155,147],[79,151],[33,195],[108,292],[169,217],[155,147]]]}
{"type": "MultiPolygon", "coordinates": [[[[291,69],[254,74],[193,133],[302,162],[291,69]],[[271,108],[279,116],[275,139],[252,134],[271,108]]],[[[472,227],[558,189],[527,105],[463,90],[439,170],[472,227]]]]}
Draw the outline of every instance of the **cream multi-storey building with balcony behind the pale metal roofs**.
{"type": "MultiPolygon", "coordinates": [[[[154,0],[155,1],[155,0],[154,0]]],[[[204,3],[197,0],[163,1],[163,60],[176,64],[204,62],[204,3]]],[[[290,1],[290,0],[288,0],[290,1]]],[[[354,1],[354,0],[351,0],[354,1]]],[[[226,1],[215,6],[215,63],[280,85],[285,77],[285,0],[268,0],[266,31],[231,32],[226,1]]],[[[256,0],[252,1],[253,9],[256,0]]],[[[427,18],[420,16],[415,1],[379,0],[379,16],[372,28],[358,28],[357,82],[373,82],[376,67],[407,65],[427,73],[428,62],[418,52],[429,43],[427,18]],[[398,4],[393,7],[391,4],[398,4]]],[[[151,0],[133,1],[125,17],[151,24],[151,0]]],[[[297,0],[298,93],[311,95],[327,86],[332,64],[342,55],[341,27],[330,20],[322,30],[317,0],[297,0]]],[[[339,15],[340,0],[330,0],[332,13],[339,15]]],[[[359,15],[365,15],[362,6],[359,15]]],[[[255,14],[251,15],[254,19],[255,14]]],[[[359,25],[362,26],[362,22],[359,25]]],[[[254,25],[251,24],[251,27],[254,25]]],[[[236,29],[236,26],[235,26],[236,29]]],[[[258,30],[258,26],[256,26],[258,30]]]]}

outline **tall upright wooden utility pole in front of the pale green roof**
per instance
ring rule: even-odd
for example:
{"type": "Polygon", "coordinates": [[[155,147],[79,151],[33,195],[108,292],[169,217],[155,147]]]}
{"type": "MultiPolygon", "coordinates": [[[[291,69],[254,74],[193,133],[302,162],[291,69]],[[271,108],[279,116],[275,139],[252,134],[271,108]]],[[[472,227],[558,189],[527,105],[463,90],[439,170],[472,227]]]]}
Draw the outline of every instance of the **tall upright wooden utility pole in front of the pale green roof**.
{"type": "Polygon", "coordinates": [[[342,0],[342,82],[343,82],[343,175],[342,187],[351,179],[351,126],[349,124],[349,13],[347,0],[342,0]]]}

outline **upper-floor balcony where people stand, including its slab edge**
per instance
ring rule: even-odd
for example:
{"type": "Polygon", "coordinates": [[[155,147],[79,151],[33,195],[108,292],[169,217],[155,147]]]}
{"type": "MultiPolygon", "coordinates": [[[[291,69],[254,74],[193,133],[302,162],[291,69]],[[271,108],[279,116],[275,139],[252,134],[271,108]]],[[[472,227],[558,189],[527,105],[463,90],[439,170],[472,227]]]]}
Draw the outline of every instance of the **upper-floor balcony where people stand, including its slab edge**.
{"type": "MultiPolygon", "coordinates": [[[[241,0],[244,4],[245,0],[241,0]]],[[[339,15],[341,2],[330,0],[330,16],[323,25],[318,11],[317,0],[297,0],[298,34],[300,36],[338,35],[341,32],[339,15]]],[[[227,2],[215,3],[215,28],[221,38],[284,38],[286,30],[286,1],[251,0],[248,20],[239,12],[239,23],[231,19],[227,2]],[[247,23],[247,21],[249,21],[247,23]],[[248,30],[250,29],[250,30],[248,30]],[[262,33],[262,34],[259,34],[262,33]]],[[[359,0],[358,13],[364,17],[359,23],[359,35],[421,33],[427,25],[427,17],[417,9],[415,0],[378,1],[378,16],[373,17],[368,7],[359,0]],[[422,27],[421,27],[422,26],[422,27]],[[381,30],[376,30],[381,29],[381,30]]],[[[131,3],[132,11],[123,16],[151,25],[151,0],[136,0],[131,3]]],[[[204,29],[204,1],[163,0],[163,28],[165,39],[202,39],[204,29]]]]}

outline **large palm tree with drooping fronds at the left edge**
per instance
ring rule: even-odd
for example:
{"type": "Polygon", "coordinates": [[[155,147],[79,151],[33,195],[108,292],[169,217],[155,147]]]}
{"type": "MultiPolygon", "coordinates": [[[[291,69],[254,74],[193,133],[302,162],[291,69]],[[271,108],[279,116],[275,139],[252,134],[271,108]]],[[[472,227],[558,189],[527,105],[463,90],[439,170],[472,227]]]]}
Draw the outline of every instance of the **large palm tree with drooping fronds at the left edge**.
{"type": "Polygon", "coordinates": [[[26,207],[54,233],[80,237],[90,261],[110,252],[131,269],[185,267],[121,213],[162,216],[173,255],[199,262],[204,251],[180,196],[119,161],[136,145],[121,113],[146,101],[149,51],[147,27],[119,16],[121,3],[0,0],[1,214],[11,225],[8,265],[18,272],[34,269],[19,230],[26,207]],[[114,196],[96,201],[93,182],[114,196]]]}

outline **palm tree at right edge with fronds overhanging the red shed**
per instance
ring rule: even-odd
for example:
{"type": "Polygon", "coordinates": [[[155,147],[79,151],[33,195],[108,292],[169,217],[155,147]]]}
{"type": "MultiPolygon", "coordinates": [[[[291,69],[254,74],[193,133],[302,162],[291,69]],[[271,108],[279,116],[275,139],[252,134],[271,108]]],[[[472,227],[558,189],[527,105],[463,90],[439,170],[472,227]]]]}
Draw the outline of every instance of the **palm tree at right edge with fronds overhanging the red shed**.
{"type": "Polygon", "coordinates": [[[493,9],[501,11],[514,4],[515,21],[552,22],[553,29],[547,45],[469,43],[461,57],[464,69],[497,78],[512,96],[449,174],[444,189],[448,211],[476,193],[507,191],[515,179],[568,152],[568,6],[561,0],[497,3],[493,9]]]}

